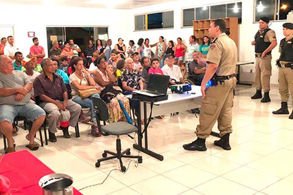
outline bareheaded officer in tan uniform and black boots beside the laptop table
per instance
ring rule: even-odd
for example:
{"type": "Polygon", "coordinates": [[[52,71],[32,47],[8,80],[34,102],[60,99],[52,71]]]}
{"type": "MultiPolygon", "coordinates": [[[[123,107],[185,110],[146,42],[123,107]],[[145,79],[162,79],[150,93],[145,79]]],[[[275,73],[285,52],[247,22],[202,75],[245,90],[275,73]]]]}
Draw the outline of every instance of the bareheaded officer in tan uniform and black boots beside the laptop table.
{"type": "Polygon", "coordinates": [[[232,133],[233,89],[236,85],[235,69],[237,63],[237,47],[226,34],[226,23],[222,19],[214,20],[209,26],[210,37],[215,38],[209,47],[208,64],[205,77],[201,83],[203,95],[199,125],[196,127],[197,139],[183,145],[185,150],[206,151],[206,138],[218,121],[221,139],[214,141],[216,146],[230,150],[229,136],[232,133]],[[213,86],[206,88],[209,80],[213,86]]]}

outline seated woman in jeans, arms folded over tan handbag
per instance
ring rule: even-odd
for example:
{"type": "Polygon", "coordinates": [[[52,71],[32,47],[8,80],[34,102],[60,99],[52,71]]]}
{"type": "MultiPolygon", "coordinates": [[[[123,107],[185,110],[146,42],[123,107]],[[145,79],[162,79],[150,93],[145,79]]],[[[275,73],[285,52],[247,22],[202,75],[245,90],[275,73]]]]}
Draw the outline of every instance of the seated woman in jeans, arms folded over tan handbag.
{"type": "Polygon", "coordinates": [[[81,58],[74,58],[72,60],[72,71],[70,75],[70,86],[72,88],[72,101],[80,104],[82,108],[89,108],[91,112],[91,135],[94,137],[100,137],[96,114],[94,113],[94,106],[91,100],[92,97],[100,97],[98,86],[94,79],[84,68],[84,62],[81,58]],[[81,95],[85,97],[81,97],[81,95]],[[88,96],[88,97],[86,97],[88,96]]]}

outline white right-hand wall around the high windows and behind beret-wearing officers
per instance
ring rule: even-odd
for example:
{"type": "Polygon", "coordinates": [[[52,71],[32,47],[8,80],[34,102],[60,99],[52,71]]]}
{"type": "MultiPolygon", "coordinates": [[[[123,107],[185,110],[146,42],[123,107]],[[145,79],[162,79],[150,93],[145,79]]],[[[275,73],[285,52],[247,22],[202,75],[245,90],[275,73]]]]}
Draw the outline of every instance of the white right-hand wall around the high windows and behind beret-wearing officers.
{"type": "MultiPolygon", "coordinates": [[[[221,1],[219,0],[177,0],[167,3],[155,4],[146,7],[141,7],[131,10],[131,15],[137,15],[149,12],[159,12],[164,10],[174,10],[174,29],[166,30],[147,30],[147,31],[134,31],[134,24],[131,23],[131,39],[135,41],[139,38],[149,38],[150,43],[158,41],[159,36],[163,36],[168,40],[176,41],[177,37],[181,37],[185,43],[188,43],[190,35],[193,35],[193,27],[182,28],[182,9],[200,7],[203,5],[225,4],[235,2],[235,0],[221,1]]],[[[133,18],[132,18],[133,20],[133,18]]],[[[284,22],[272,22],[270,28],[276,32],[276,37],[279,41],[283,39],[282,24],[284,22]]],[[[254,47],[251,46],[251,41],[258,30],[258,24],[253,23],[253,0],[242,0],[242,24],[239,25],[239,60],[241,61],[254,61],[254,47]]],[[[272,78],[271,83],[277,84],[278,72],[275,67],[275,60],[279,57],[278,46],[272,52],[272,78]]],[[[241,66],[241,81],[253,81],[254,74],[250,73],[254,65],[241,66]]]]}

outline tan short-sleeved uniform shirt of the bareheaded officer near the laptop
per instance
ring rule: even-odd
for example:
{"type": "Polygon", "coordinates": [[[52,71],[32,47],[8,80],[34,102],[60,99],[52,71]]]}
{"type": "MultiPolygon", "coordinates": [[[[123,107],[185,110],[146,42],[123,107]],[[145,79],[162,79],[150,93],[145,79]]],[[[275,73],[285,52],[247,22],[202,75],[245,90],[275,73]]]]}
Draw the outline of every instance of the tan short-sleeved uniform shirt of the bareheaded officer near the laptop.
{"type": "Polygon", "coordinates": [[[221,33],[209,46],[207,63],[219,65],[216,71],[218,76],[228,76],[235,74],[237,56],[238,51],[235,42],[225,33],[221,33]]]}

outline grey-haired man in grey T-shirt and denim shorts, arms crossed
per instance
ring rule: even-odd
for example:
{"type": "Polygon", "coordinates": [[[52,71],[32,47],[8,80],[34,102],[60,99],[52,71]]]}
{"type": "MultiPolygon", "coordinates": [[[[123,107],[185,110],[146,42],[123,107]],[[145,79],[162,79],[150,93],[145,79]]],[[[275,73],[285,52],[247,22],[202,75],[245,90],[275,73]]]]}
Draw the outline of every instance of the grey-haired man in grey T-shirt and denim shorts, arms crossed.
{"type": "Polygon", "coordinates": [[[30,91],[33,85],[29,78],[21,71],[14,70],[12,59],[0,56],[0,130],[7,139],[6,153],[15,152],[12,137],[12,124],[15,117],[25,117],[33,122],[26,139],[30,150],[38,150],[39,145],[34,142],[36,132],[42,126],[45,112],[41,107],[30,103],[30,91]]]}

